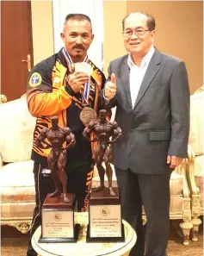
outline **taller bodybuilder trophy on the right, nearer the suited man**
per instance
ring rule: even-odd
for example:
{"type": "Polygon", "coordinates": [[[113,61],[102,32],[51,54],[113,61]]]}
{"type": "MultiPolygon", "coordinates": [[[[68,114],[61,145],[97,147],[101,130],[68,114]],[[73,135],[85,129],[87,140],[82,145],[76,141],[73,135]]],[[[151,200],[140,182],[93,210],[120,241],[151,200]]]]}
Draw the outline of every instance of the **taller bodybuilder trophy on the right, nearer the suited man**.
{"type": "Polygon", "coordinates": [[[116,122],[108,122],[107,115],[107,110],[100,110],[98,119],[91,121],[83,130],[86,140],[90,140],[90,134],[95,134],[95,138],[90,141],[96,142],[94,154],[100,178],[100,186],[96,189],[92,188],[90,192],[87,242],[125,240],[119,191],[118,188],[112,186],[113,170],[110,165],[111,144],[121,136],[121,128],[116,122]],[[105,168],[102,166],[102,162],[104,162],[105,168]],[[104,184],[105,173],[108,178],[108,188],[104,184]]]}

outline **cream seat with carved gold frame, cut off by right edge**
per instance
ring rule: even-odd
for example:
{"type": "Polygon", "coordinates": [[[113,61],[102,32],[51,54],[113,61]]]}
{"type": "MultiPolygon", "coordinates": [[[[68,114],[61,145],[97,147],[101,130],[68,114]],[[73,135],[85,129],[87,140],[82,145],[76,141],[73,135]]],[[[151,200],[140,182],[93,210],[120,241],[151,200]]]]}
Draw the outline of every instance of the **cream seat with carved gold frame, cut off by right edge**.
{"type": "Polygon", "coordinates": [[[189,165],[187,178],[191,191],[192,240],[198,240],[203,215],[203,86],[190,97],[189,165]]]}

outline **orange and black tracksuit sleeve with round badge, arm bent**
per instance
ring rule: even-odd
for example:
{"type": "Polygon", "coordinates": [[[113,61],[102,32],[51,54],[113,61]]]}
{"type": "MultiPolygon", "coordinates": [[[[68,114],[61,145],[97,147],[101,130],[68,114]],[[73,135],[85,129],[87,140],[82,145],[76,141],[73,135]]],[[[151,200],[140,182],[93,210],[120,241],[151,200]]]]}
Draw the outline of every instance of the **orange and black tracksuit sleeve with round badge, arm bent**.
{"type": "Polygon", "coordinates": [[[28,109],[32,116],[53,116],[67,109],[71,101],[72,96],[65,86],[54,86],[49,63],[34,66],[29,74],[27,89],[28,109]]]}

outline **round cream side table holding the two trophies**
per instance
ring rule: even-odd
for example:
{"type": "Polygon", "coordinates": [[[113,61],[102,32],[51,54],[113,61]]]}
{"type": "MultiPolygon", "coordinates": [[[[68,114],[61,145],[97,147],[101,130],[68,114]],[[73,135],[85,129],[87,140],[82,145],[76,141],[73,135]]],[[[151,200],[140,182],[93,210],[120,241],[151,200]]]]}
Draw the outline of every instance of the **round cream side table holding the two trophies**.
{"type": "Polygon", "coordinates": [[[128,256],[137,236],[133,228],[122,221],[125,228],[125,242],[86,243],[88,212],[76,213],[76,221],[81,225],[77,243],[38,243],[41,227],[32,237],[32,246],[39,256],[128,256]]]}

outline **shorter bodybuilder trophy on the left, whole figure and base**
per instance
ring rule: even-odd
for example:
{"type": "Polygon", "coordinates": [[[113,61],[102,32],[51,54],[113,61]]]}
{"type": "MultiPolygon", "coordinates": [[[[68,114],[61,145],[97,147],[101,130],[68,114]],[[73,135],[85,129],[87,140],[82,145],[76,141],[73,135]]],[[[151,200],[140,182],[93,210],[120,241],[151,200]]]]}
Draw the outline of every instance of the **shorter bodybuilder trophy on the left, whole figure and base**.
{"type": "Polygon", "coordinates": [[[52,127],[43,129],[35,144],[41,148],[51,148],[47,157],[48,168],[55,184],[55,190],[48,194],[41,209],[41,237],[39,242],[76,242],[79,224],[74,222],[76,196],[67,193],[65,173],[66,150],[76,143],[70,128],[59,127],[59,118],[51,118],[52,127]],[[49,143],[48,143],[49,142],[49,143]],[[64,147],[64,143],[67,144],[64,147]],[[62,184],[62,193],[61,193],[62,184]]]}

